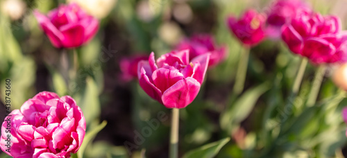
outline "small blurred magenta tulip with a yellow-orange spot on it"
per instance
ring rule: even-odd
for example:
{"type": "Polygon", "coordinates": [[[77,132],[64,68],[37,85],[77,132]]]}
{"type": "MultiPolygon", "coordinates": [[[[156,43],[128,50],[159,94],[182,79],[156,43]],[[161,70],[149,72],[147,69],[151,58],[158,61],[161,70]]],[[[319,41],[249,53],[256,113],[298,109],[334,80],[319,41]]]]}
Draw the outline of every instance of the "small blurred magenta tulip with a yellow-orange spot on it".
{"type": "Polygon", "coordinates": [[[265,37],[266,15],[256,10],[247,10],[239,19],[228,17],[229,29],[245,45],[254,46],[265,37]]]}

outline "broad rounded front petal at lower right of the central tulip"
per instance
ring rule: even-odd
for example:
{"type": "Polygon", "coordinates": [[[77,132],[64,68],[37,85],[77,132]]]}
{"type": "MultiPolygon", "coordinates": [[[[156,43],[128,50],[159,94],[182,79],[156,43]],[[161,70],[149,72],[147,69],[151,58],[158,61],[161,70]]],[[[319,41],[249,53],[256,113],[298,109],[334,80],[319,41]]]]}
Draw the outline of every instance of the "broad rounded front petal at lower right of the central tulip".
{"type": "Polygon", "coordinates": [[[198,95],[201,84],[194,78],[179,80],[175,85],[164,91],[162,103],[167,108],[187,107],[198,95]]]}

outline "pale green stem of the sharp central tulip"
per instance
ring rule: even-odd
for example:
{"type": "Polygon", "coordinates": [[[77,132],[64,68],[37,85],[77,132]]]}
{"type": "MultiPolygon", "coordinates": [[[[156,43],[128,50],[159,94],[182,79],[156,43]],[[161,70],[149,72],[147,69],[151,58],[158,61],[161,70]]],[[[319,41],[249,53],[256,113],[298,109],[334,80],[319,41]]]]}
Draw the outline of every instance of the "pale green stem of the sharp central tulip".
{"type": "Polygon", "coordinates": [[[180,121],[180,111],[178,108],[172,109],[172,119],[171,119],[171,137],[170,137],[170,158],[178,157],[178,124],[180,121]]]}

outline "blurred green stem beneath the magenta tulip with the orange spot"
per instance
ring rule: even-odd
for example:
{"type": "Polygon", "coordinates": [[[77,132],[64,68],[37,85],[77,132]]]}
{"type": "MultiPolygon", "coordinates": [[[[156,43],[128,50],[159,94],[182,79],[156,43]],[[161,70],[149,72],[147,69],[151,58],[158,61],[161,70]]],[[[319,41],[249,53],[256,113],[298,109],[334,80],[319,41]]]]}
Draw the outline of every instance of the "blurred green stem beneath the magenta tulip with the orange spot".
{"type": "Polygon", "coordinates": [[[244,81],[246,80],[247,67],[248,67],[248,58],[250,48],[246,47],[245,51],[240,53],[239,65],[237,66],[237,73],[235,77],[235,85],[232,91],[235,95],[239,95],[244,90],[244,81]]]}

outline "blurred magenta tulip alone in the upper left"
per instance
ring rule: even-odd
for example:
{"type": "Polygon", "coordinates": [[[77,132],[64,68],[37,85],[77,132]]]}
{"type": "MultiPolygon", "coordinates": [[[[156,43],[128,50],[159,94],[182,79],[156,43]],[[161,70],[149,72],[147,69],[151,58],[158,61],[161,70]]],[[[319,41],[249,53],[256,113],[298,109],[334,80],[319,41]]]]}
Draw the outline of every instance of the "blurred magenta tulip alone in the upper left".
{"type": "Polygon", "coordinates": [[[87,15],[76,3],[60,5],[47,17],[34,11],[42,30],[57,48],[74,48],[88,42],[96,34],[99,21],[87,15]]]}

